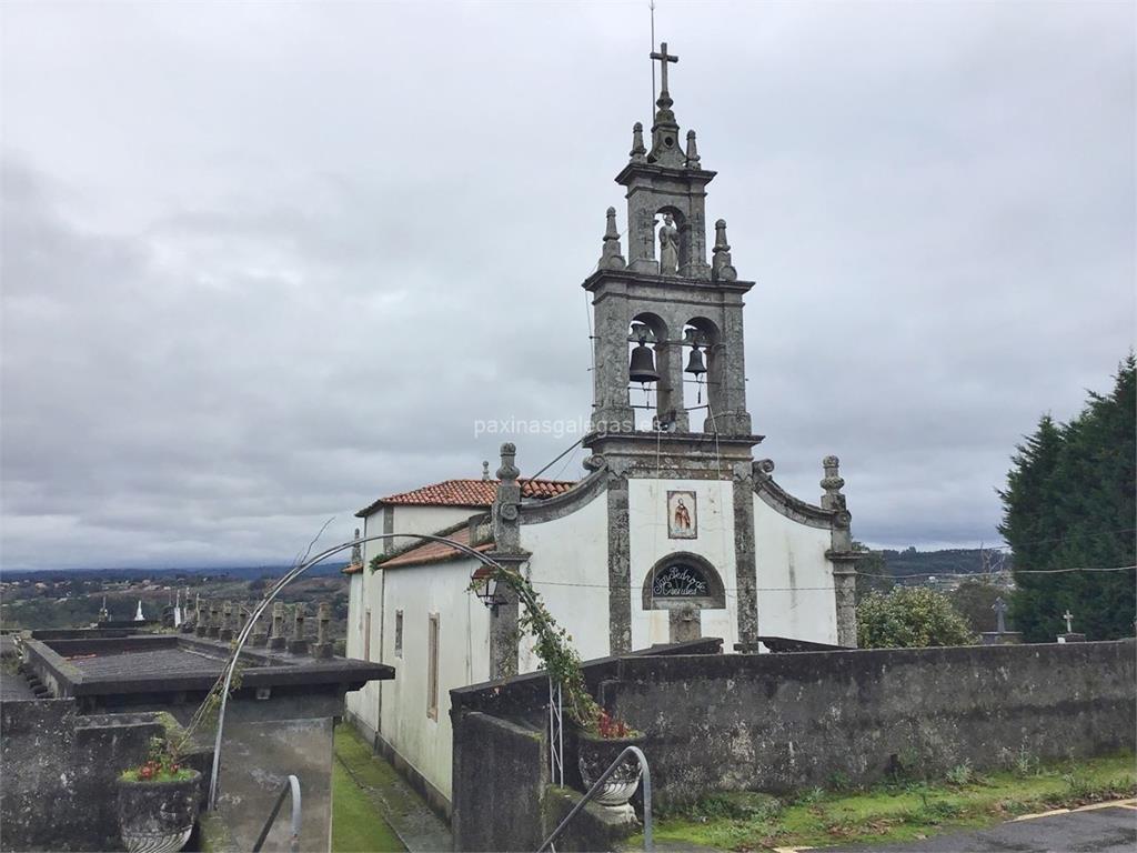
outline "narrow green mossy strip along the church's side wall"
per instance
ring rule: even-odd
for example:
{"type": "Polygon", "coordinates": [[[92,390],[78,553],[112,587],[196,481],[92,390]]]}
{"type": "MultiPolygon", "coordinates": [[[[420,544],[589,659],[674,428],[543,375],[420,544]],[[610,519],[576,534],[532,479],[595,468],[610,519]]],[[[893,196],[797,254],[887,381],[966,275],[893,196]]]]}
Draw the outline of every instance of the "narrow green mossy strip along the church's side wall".
{"type": "Polygon", "coordinates": [[[350,726],[335,728],[332,763],[332,853],[404,853],[406,847],[383,820],[381,804],[366,786],[380,784],[385,764],[350,726]],[[350,768],[351,772],[348,772],[350,768]],[[357,782],[356,780],[359,780],[357,782]]]}

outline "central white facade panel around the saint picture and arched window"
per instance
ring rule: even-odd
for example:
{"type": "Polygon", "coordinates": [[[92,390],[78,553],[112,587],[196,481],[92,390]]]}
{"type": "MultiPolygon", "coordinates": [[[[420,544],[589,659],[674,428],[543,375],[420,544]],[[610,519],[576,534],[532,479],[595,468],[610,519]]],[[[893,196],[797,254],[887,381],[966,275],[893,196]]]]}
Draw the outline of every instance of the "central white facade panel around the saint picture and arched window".
{"type": "Polygon", "coordinates": [[[629,545],[632,582],[632,648],[667,643],[669,613],[644,611],[642,590],[648,572],[657,562],[675,552],[697,554],[719,572],[727,590],[725,610],[700,611],[699,631],[704,637],[721,637],[723,649],[731,651],[738,635],[738,594],[735,572],[733,486],[722,480],[629,480],[629,545]],[[696,496],[695,539],[667,537],[667,492],[694,491],[696,496]]]}

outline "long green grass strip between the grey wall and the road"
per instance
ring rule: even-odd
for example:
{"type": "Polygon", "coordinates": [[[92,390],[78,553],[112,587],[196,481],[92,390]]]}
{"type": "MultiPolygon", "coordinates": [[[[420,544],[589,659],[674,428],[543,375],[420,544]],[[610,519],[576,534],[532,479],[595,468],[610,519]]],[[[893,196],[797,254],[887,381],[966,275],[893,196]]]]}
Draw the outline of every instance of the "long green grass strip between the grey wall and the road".
{"type": "MultiPolygon", "coordinates": [[[[1040,765],[1014,762],[980,775],[970,767],[938,782],[895,781],[868,789],[814,788],[795,797],[733,792],[661,815],[655,837],[717,847],[761,850],[927,838],[987,827],[1020,814],[1137,795],[1132,754],[1040,765]]],[[[629,839],[634,848],[641,839],[629,839]]]]}

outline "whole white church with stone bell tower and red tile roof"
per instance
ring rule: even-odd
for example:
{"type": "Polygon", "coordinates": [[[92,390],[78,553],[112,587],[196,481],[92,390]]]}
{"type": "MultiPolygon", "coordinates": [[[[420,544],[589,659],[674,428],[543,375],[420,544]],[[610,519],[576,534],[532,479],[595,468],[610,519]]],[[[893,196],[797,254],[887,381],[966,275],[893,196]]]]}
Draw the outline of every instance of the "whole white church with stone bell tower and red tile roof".
{"type": "MultiPolygon", "coordinates": [[[[837,458],[818,504],[755,458],[746,401],[744,299],[727,223],[709,246],[694,131],[680,135],[666,43],[657,111],[637,123],[625,190],[626,258],[614,208],[596,272],[594,404],[575,482],[521,477],[501,446],[497,479],[449,480],[360,510],[364,536],[437,533],[530,579],[584,660],[698,637],[764,651],[762,637],[856,645],[849,513],[837,458]]],[[[524,458],[522,463],[532,463],[524,458]]],[[[443,544],[367,543],[350,574],[348,655],[396,678],[348,695],[348,717],[448,811],[449,690],[538,668],[518,604],[467,591],[480,566],[443,544]]]]}

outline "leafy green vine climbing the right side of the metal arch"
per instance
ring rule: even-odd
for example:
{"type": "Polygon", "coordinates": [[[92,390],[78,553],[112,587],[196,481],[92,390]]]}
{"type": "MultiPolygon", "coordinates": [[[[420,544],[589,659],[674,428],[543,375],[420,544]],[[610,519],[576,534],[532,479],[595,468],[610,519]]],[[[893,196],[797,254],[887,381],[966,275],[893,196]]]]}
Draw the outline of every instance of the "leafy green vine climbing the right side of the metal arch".
{"type": "Polygon", "coordinates": [[[553,614],[549,613],[541,596],[533,589],[529,580],[520,572],[501,565],[489,566],[481,574],[482,577],[475,577],[470,581],[470,591],[479,591],[489,582],[490,578],[493,578],[499,585],[504,583],[516,593],[518,603],[522,605],[517,619],[517,630],[533,638],[533,653],[540,659],[549,678],[561,685],[568,717],[586,731],[597,737],[638,735],[639,732],[625,723],[607,717],[606,712],[601,711],[596,699],[592,698],[584,684],[580,654],[572,645],[572,635],[553,619],[553,614]],[[607,720],[603,731],[600,729],[601,719],[607,720]],[[623,734],[616,735],[616,731],[623,734]]]}

